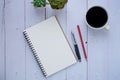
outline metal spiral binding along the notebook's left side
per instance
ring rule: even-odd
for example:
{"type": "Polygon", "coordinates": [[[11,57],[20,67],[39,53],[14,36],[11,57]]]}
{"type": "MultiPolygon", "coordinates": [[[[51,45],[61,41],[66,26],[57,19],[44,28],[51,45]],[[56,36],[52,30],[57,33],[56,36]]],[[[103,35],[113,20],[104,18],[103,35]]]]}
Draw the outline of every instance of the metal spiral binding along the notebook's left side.
{"type": "Polygon", "coordinates": [[[41,71],[43,72],[43,75],[44,75],[44,76],[47,76],[47,73],[45,72],[42,63],[40,62],[40,59],[39,59],[39,57],[38,57],[38,55],[37,55],[37,53],[36,53],[36,51],[35,51],[35,49],[34,49],[34,47],[33,47],[33,45],[32,45],[32,42],[30,41],[30,38],[29,38],[29,36],[27,35],[27,32],[24,31],[23,34],[25,35],[25,38],[26,38],[26,40],[27,40],[30,48],[32,49],[32,52],[33,52],[33,54],[34,54],[34,57],[36,58],[36,61],[37,61],[37,63],[39,64],[39,67],[41,68],[41,71]]]}

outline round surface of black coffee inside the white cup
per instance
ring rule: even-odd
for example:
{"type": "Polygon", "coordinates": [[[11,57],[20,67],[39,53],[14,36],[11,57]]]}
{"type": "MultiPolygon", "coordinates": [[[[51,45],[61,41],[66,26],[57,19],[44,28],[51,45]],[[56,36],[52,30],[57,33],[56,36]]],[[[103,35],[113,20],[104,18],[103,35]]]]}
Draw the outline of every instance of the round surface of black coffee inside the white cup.
{"type": "Polygon", "coordinates": [[[103,8],[95,6],[88,10],[86,20],[92,27],[100,28],[106,24],[108,15],[103,8]]]}

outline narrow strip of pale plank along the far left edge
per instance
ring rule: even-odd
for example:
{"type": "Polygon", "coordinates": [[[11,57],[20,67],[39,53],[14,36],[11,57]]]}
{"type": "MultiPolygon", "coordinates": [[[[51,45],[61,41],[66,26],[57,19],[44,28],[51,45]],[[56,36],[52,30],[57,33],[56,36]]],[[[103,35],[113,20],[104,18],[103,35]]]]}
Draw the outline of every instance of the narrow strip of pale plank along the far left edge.
{"type": "Polygon", "coordinates": [[[4,0],[0,0],[0,80],[5,79],[4,0]]]}

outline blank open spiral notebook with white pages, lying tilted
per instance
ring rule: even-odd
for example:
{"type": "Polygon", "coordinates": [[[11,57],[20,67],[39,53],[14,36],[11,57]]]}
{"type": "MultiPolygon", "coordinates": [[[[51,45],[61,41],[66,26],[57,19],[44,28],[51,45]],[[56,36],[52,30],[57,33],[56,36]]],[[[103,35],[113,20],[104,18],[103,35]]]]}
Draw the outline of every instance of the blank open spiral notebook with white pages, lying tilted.
{"type": "Polygon", "coordinates": [[[46,77],[77,62],[55,16],[24,30],[23,33],[46,77]]]}

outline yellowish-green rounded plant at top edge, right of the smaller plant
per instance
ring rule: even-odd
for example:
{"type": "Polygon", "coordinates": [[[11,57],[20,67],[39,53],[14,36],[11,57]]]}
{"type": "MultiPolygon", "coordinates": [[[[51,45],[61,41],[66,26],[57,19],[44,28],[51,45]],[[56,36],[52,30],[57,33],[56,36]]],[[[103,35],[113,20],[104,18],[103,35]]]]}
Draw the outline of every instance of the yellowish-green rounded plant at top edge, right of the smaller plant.
{"type": "Polygon", "coordinates": [[[68,0],[48,0],[53,9],[63,9],[68,0]]]}

